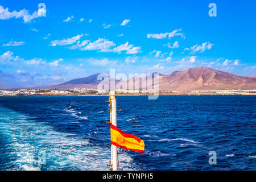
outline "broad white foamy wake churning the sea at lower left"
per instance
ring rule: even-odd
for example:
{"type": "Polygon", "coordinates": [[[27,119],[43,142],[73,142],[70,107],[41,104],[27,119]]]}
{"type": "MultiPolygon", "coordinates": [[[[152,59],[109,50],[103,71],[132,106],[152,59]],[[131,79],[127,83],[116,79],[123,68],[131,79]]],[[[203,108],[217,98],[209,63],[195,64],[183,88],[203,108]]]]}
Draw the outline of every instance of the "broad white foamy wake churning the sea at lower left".
{"type": "MultiPolygon", "coordinates": [[[[72,112],[72,111],[71,111],[72,112]]],[[[60,133],[46,123],[0,107],[0,130],[9,140],[10,170],[40,170],[39,152],[45,152],[47,170],[109,170],[110,147],[93,146],[89,140],[60,133]]],[[[119,156],[121,169],[131,170],[132,158],[119,156]]],[[[137,168],[136,168],[137,169],[137,168]]]]}

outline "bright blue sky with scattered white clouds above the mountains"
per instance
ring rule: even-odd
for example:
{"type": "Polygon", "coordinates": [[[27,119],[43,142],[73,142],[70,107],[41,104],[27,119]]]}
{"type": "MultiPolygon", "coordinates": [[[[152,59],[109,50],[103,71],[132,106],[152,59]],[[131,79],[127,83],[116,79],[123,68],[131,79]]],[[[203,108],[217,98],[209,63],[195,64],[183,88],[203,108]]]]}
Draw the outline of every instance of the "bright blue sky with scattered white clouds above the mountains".
{"type": "Polygon", "coordinates": [[[0,1],[0,88],[204,65],[256,76],[255,1],[0,1]],[[38,7],[46,5],[46,16],[38,7]],[[209,3],[217,16],[210,17],[209,3]],[[39,13],[40,11],[40,13],[39,13]]]}

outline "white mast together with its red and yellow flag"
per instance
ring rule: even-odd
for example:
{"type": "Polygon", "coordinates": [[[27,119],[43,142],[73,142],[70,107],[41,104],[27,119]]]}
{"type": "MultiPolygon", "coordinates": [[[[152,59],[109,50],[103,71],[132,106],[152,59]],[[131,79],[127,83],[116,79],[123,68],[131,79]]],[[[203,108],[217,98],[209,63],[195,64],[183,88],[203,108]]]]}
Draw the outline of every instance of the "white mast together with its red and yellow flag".
{"type": "MultiPolygon", "coordinates": [[[[110,122],[106,122],[110,124],[110,135],[111,135],[111,159],[110,164],[108,166],[111,170],[118,170],[118,153],[117,147],[123,148],[126,150],[142,152],[144,151],[144,141],[131,134],[126,134],[122,130],[117,127],[117,113],[122,111],[122,109],[117,111],[117,100],[115,98],[115,91],[109,91],[109,112],[110,112],[110,122]]],[[[108,143],[107,143],[108,144],[108,143]]],[[[119,153],[122,154],[122,153],[119,153]]]]}

